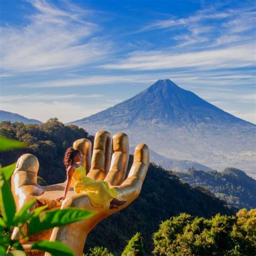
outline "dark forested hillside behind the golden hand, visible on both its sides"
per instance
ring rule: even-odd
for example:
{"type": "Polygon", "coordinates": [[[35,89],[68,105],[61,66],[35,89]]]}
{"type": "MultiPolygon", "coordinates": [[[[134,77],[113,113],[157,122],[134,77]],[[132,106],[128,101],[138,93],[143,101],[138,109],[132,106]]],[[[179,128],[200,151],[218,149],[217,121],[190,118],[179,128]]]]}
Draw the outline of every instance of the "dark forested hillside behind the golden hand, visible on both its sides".
{"type": "MultiPolygon", "coordinates": [[[[3,122],[0,124],[0,136],[4,134],[28,143],[29,149],[3,152],[0,162],[5,166],[16,161],[22,153],[35,154],[40,163],[38,174],[41,184],[63,181],[62,159],[66,148],[78,138],[93,139],[85,130],[75,125],[64,126],[57,119],[50,119],[42,125],[3,122]]],[[[131,163],[132,156],[129,167],[131,163]]],[[[184,184],[177,176],[170,176],[161,167],[151,164],[140,196],[122,212],[102,221],[89,234],[86,248],[105,246],[118,254],[125,247],[126,240],[141,231],[146,251],[150,253],[153,249],[151,235],[158,230],[160,221],[180,212],[210,217],[218,212],[232,214],[233,210],[212,193],[184,184]]]]}

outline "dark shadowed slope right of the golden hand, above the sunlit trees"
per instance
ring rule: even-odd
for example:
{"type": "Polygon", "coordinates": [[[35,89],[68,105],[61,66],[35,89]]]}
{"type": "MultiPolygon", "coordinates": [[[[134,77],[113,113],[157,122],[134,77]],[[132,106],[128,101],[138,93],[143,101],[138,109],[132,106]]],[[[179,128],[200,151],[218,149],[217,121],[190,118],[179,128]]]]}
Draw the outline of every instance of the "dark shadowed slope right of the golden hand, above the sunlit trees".
{"type": "Polygon", "coordinates": [[[220,212],[232,214],[223,201],[207,191],[193,188],[156,165],[150,165],[140,196],[123,211],[102,221],[89,234],[86,250],[93,246],[120,252],[136,232],[142,232],[146,252],[152,251],[152,233],[171,216],[186,212],[192,216],[210,217],[220,212]]]}

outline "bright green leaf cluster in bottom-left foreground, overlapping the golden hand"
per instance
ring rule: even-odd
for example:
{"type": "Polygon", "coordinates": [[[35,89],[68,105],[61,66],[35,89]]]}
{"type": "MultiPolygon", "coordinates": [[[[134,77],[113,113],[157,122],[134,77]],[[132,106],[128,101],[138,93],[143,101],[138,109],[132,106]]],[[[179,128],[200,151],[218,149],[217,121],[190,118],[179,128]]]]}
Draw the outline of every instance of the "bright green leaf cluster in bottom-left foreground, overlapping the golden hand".
{"type": "MultiPolygon", "coordinates": [[[[0,138],[0,143],[3,138],[0,138]]],[[[15,145],[15,144],[14,144],[15,145]]],[[[10,148],[10,147],[9,147],[10,148]]],[[[14,197],[11,193],[9,179],[14,171],[16,164],[0,167],[0,206],[2,217],[0,217],[0,254],[4,255],[25,255],[23,247],[16,238],[19,233],[24,240],[29,239],[29,235],[47,230],[52,227],[58,227],[74,223],[75,221],[87,219],[93,215],[92,212],[78,208],[69,208],[65,210],[44,211],[46,206],[36,208],[36,200],[25,204],[21,210],[16,212],[14,197]],[[28,232],[24,232],[24,226],[28,224],[28,232]],[[18,231],[14,237],[11,237],[14,227],[18,231]]],[[[35,250],[50,252],[52,254],[75,255],[73,251],[61,242],[39,241],[32,244],[35,250]]]]}

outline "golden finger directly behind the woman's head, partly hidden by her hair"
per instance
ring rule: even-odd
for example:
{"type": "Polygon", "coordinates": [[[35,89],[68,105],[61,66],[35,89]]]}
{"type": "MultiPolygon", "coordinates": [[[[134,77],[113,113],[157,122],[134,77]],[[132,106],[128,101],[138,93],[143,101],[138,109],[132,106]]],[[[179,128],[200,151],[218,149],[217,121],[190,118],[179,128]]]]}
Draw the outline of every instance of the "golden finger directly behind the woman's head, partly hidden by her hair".
{"type": "Polygon", "coordinates": [[[91,168],[92,143],[89,139],[78,139],[73,143],[73,148],[82,153],[83,159],[81,164],[84,167],[86,174],[88,174],[91,168]]]}

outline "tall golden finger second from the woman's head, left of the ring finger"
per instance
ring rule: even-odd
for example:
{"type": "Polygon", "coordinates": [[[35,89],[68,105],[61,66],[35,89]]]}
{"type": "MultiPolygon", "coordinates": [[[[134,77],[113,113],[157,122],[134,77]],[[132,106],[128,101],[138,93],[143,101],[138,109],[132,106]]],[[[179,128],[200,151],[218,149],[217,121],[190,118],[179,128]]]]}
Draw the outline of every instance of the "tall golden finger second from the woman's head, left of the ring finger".
{"type": "Polygon", "coordinates": [[[91,170],[87,174],[95,180],[104,180],[109,171],[112,154],[112,138],[107,131],[96,133],[92,152],[91,170]]]}

